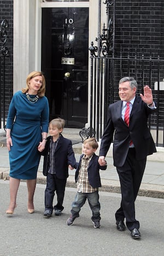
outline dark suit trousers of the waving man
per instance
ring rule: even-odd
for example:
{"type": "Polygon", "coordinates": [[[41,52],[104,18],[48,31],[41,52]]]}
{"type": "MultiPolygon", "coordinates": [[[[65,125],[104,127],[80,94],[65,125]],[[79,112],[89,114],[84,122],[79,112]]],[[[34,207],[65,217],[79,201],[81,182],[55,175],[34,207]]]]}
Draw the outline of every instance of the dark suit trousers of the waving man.
{"type": "Polygon", "coordinates": [[[115,213],[115,218],[116,220],[126,218],[126,226],[130,231],[134,228],[139,229],[139,222],[135,217],[134,202],[142,181],[146,162],[147,158],[136,160],[136,150],[130,148],[124,166],[116,167],[120,179],[122,200],[120,208],[115,213]]]}

